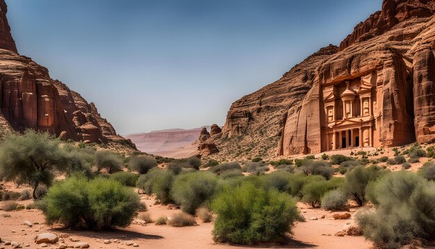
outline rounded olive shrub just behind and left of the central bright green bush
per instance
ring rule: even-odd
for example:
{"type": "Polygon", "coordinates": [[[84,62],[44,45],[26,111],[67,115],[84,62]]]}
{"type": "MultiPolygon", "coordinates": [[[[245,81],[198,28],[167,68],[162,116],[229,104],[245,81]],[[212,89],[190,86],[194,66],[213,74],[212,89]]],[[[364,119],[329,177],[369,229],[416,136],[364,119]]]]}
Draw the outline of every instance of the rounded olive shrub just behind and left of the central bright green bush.
{"type": "Polygon", "coordinates": [[[188,214],[208,204],[217,187],[217,178],[210,172],[191,172],[179,175],[172,186],[171,195],[188,214]]]}

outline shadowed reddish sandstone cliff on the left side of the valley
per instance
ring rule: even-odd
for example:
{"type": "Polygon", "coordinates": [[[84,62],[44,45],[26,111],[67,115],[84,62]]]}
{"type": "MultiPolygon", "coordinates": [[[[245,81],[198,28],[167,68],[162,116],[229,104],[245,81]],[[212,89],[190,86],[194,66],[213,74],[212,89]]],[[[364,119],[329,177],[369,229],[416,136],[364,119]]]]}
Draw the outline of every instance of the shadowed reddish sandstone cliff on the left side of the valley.
{"type": "Polygon", "coordinates": [[[104,143],[127,152],[136,150],[131,140],[117,136],[101,118],[95,104],[50,78],[47,68],[17,53],[6,19],[6,3],[0,1],[0,110],[1,129],[30,128],[48,131],[63,139],[104,143]],[[6,122],[7,121],[7,124],[6,122]],[[113,144],[113,145],[110,145],[113,144]]]}

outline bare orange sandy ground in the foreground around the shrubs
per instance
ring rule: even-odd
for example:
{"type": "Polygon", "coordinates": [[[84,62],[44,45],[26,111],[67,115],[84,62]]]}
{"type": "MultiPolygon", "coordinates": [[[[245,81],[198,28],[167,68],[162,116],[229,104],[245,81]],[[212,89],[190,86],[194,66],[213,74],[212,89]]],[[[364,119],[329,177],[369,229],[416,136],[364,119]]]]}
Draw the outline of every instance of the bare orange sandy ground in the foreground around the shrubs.
{"type": "MultiPolygon", "coordinates": [[[[9,188],[17,191],[17,188],[9,188]]],[[[176,209],[167,209],[167,206],[154,204],[154,198],[141,195],[142,202],[145,202],[151,217],[156,219],[159,216],[172,216],[179,212],[176,209]]],[[[30,204],[32,200],[18,201],[20,204],[30,204]]],[[[4,202],[0,202],[0,207],[4,202]]],[[[306,218],[306,222],[299,222],[293,230],[293,240],[288,245],[274,246],[263,245],[255,248],[370,248],[371,244],[364,241],[362,236],[338,237],[334,234],[343,229],[349,220],[334,220],[329,211],[312,209],[299,203],[299,209],[306,218]],[[325,215],[325,218],[320,218],[325,215]],[[318,220],[310,220],[312,217],[318,220]]],[[[354,210],[351,210],[351,214],[354,210]]],[[[136,223],[137,220],[133,221],[136,223]]],[[[137,243],[139,248],[238,248],[240,246],[229,246],[215,244],[211,231],[213,223],[202,223],[197,220],[198,225],[193,227],[170,227],[168,225],[139,225],[132,224],[129,227],[109,232],[89,232],[63,229],[60,226],[51,226],[44,223],[44,216],[39,210],[24,209],[22,211],[0,211],[0,238],[3,241],[17,241],[24,248],[42,248],[33,241],[34,237],[42,232],[53,232],[62,238],[68,246],[74,246],[69,238],[73,237],[79,241],[87,242],[90,248],[133,248],[126,246],[127,242],[137,243]],[[8,214],[10,217],[3,217],[8,214]],[[34,223],[32,227],[24,225],[24,221],[34,223]],[[36,224],[35,224],[36,223],[36,224]],[[117,243],[104,244],[104,240],[117,239],[117,243]]],[[[58,248],[60,243],[48,245],[46,248],[58,248]]],[[[0,246],[1,248],[1,246],[0,246]]],[[[8,247],[6,247],[8,248],[8,247]]],[[[250,247],[246,247],[250,248],[250,247]]]]}

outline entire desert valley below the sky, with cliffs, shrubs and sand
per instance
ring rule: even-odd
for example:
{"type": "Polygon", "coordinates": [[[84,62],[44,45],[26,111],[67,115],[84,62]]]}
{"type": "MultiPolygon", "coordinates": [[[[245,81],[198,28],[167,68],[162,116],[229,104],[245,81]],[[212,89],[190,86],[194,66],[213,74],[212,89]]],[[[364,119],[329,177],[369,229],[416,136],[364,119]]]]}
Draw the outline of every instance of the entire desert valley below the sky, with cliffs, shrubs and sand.
{"type": "Polygon", "coordinates": [[[435,248],[435,1],[379,6],[220,124],[120,135],[0,0],[0,248],[435,248]]]}

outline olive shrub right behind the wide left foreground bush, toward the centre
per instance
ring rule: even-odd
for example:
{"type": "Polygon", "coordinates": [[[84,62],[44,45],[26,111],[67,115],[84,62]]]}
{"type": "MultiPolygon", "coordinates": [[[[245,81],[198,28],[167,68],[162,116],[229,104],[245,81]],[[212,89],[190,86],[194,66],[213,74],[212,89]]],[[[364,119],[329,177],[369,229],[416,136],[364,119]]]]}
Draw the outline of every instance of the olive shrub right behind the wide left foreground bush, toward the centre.
{"type": "Polygon", "coordinates": [[[151,195],[156,195],[156,200],[162,204],[172,202],[171,188],[174,182],[174,173],[169,170],[154,168],[149,170],[146,175],[141,175],[136,186],[142,191],[151,195]]]}

